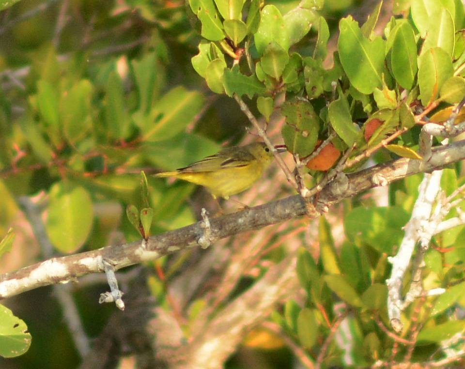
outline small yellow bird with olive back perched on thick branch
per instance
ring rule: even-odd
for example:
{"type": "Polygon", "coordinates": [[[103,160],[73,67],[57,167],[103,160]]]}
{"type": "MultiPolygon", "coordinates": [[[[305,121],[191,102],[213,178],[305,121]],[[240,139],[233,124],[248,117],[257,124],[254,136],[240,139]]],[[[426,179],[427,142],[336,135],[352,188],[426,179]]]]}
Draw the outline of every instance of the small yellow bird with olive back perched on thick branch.
{"type": "MultiPolygon", "coordinates": [[[[279,152],[285,149],[277,149],[279,152]]],[[[204,186],[216,199],[226,200],[231,195],[247,190],[273,160],[273,154],[263,142],[227,147],[215,155],[172,172],[155,177],[174,177],[204,186]]]]}

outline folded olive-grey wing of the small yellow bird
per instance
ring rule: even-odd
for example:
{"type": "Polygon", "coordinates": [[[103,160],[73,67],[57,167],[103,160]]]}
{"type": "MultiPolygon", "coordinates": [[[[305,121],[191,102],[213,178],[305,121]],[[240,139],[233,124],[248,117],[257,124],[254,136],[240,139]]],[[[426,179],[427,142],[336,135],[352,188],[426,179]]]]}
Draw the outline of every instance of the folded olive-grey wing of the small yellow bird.
{"type": "Polygon", "coordinates": [[[185,168],[180,168],[181,172],[208,172],[221,168],[239,168],[244,167],[254,160],[255,157],[245,150],[237,150],[234,147],[228,147],[219,153],[196,161],[185,168]]]}

